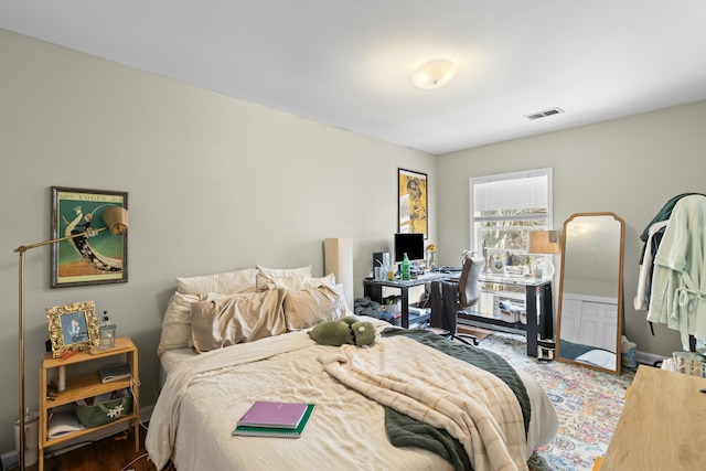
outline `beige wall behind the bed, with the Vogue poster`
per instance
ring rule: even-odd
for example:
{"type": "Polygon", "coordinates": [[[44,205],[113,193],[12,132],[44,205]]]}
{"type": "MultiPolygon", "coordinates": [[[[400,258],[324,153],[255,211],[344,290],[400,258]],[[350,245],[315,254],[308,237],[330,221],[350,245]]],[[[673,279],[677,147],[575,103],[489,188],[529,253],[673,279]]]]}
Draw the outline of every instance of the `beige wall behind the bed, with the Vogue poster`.
{"type": "MultiPolygon", "coordinates": [[[[26,404],[38,404],[44,309],[95,300],[140,352],[142,403],[174,277],[313,265],[351,237],[356,296],[396,231],[397,168],[436,184],[436,158],[0,30],[0,452],[18,417],[18,261],[50,236],[50,186],[129,192],[129,282],[50,289],[26,255],[26,404]]],[[[429,194],[431,238],[436,193],[429,194]]]]}

